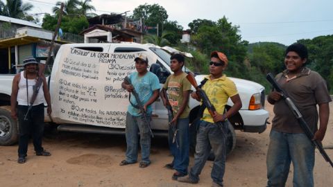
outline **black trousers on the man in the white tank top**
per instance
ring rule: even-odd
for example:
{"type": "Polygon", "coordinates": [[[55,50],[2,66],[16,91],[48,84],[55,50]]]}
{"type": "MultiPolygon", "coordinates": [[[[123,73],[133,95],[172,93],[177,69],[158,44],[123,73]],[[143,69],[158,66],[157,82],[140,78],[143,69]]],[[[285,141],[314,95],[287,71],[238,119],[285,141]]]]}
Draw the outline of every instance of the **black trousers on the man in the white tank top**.
{"type": "Polygon", "coordinates": [[[19,157],[26,157],[30,136],[33,136],[35,152],[42,152],[44,150],[42,148],[42,137],[44,133],[44,104],[31,107],[27,120],[24,120],[24,115],[28,110],[28,106],[19,105],[17,109],[19,120],[19,157]]]}

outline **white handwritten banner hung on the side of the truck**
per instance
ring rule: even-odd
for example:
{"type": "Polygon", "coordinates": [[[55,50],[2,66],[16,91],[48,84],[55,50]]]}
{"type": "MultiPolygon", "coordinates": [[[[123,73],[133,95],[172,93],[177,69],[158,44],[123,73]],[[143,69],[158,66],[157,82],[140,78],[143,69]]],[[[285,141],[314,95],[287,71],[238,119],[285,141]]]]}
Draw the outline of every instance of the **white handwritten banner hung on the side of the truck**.
{"type": "Polygon", "coordinates": [[[58,87],[53,93],[57,100],[53,116],[125,128],[129,102],[121,82],[136,71],[134,59],[142,53],[100,53],[71,47],[63,50],[55,78],[58,87]]]}

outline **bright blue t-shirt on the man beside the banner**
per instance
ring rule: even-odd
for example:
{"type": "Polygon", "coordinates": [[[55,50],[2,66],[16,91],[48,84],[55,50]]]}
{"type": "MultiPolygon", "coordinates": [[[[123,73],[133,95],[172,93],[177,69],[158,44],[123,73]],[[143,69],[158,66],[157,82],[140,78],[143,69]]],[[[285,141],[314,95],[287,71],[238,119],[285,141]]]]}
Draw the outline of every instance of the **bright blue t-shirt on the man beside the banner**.
{"type": "MultiPolygon", "coordinates": [[[[138,76],[137,71],[131,73],[130,82],[132,82],[133,87],[135,91],[137,91],[137,94],[139,95],[139,98],[143,105],[147,103],[151,96],[153,96],[153,91],[155,91],[156,89],[160,89],[160,81],[158,80],[157,76],[150,71],[148,71],[146,75],[142,77],[138,76]]],[[[137,105],[137,100],[135,100],[133,94],[130,94],[130,102],[133,103],[133,105],[137,105]]],[[[142,115],[140,113],[140,109],[136,109],[131,104],[128,105],[128,112],[132,116],[142,115]]],[[[151,105],[149,105],[147,107],[147,113],[151,114],[151,112],[151,105]]]]}

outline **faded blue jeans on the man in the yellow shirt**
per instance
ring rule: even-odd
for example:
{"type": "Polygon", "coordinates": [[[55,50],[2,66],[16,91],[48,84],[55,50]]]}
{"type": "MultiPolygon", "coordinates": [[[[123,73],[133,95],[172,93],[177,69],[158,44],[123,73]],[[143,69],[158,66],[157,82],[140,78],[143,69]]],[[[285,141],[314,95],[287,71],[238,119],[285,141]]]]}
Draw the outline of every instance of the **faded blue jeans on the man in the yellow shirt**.
{"type": "Polygon", "coordinates": [[[198,134],[196,135],[196,154],[194,154],[194,166],[192,166],[189,177],[192,181],[199,181],[199,175],[203,166],[213,149],[215,159],[211,172],[214,183],[223,186],[223,175],[225,171],[225,140],[227,137],[228,125],[200,121],[198,134]]]}

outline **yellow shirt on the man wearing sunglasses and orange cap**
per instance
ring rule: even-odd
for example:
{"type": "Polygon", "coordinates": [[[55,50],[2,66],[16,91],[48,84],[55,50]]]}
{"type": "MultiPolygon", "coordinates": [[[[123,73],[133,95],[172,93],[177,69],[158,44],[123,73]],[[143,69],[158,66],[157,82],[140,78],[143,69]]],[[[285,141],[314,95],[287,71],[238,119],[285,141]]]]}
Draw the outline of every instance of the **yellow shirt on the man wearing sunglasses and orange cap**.
{"type": "MultiPolygon", "coordinates": [[[[216,78],[214,80],[210,80],[210,75],[205,78],[207,78],[207,82],[203,85],[202,89],[210,99],[210,103],[214,105],[216,112],[223,114],[228,98],[238,94],[236,85],[224,74],[221,78],[216,78]]],[[[203,121],[214,123],[213,117],[210,115],[207,108],[203,112],[203,118],[201,119],[203,121]]]]}

